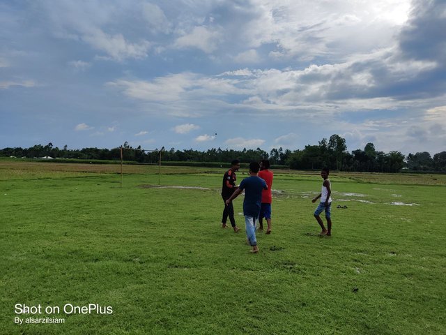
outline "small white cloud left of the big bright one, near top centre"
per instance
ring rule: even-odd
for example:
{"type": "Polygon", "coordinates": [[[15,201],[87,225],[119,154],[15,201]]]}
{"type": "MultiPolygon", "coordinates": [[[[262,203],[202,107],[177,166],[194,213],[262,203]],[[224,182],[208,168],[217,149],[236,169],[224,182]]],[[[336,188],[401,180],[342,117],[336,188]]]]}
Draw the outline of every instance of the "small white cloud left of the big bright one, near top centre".
{"type": "Polygon", "coordinates": [[[212,31],[206,27],[194,27],[190,34],[185,34],[176,39],[175,47],[187,48],[196,47],[197,49],[210,54],[217,50],[220,33],[212,31]]]}

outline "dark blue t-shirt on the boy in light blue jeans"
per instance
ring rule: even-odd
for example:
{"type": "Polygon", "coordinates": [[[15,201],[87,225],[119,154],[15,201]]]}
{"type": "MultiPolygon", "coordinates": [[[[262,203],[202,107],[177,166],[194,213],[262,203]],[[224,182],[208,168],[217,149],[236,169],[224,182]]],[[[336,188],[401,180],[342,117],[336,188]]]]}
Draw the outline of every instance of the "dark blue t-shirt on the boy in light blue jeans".
{"type": "Polygon", "coordinates": [[[268,188],[266,182],[257,176],[247,177],[242,180],[240,190],[245,190],[245,200],[243,200],[243,214],[246,216],[259,217],[260,205],[262,203],[262,190],[268,188]]]}

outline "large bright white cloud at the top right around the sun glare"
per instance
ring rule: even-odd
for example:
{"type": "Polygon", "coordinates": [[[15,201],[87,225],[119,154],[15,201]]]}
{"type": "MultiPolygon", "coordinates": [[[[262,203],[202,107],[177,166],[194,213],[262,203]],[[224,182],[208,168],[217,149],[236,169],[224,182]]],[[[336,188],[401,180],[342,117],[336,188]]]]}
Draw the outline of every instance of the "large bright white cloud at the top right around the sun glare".
{"type": "Polygon", "coordinates": [[[394,43],[394,31],[408,18],[410,0],[313,1],[254,0],[252,17],[239,24],[239,40],[257,48],[277,45],[276,59],[342,59],[394,43]]]}

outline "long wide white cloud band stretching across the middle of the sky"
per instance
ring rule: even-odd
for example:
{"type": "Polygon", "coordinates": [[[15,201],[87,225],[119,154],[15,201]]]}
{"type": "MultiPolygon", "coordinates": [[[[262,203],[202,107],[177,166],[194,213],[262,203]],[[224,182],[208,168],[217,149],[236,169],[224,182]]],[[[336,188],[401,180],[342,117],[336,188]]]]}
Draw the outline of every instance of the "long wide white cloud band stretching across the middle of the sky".
{"type": "Polygon", "coordinates": [[[416,101],[409,99],[415,96],[398,85],[407,86],[433,66],[433,62],[399,59],[390,48],[302,69],[242,68],[214,76],[177,73],[151,81],[116,80],[108,85],[141,101],[169,102],[166,113],[177,116],[201,117],[216,106],[230,106],[243,114],[311,116],[316,112],[327,115],[413,107],[416,101]],[[402,94],[406,97],[401,98],[402,94]]]}

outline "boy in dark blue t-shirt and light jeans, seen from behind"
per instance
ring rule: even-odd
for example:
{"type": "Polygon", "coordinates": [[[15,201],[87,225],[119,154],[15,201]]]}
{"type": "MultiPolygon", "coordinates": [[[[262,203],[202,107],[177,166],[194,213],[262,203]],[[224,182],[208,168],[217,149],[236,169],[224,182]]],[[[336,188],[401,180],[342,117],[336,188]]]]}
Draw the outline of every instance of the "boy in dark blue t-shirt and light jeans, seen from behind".
{"type": "Polygon", "coordinates": [[[245,215],[246,235],[249,245],[252,246],[252,253],[258,253],[256,239],[256,220],[259,220],[260,207],[262,202],[262,190],[268,190],[266,182],[257,176],[260,165],[257,162],[249,164],[249,174],[242,180],[236,191],[231,195],[231,198],[226,200],[226,205],[229,205],[232,200],[245,191],[245,200],[243,200],[243,215],[245,215]]]}

